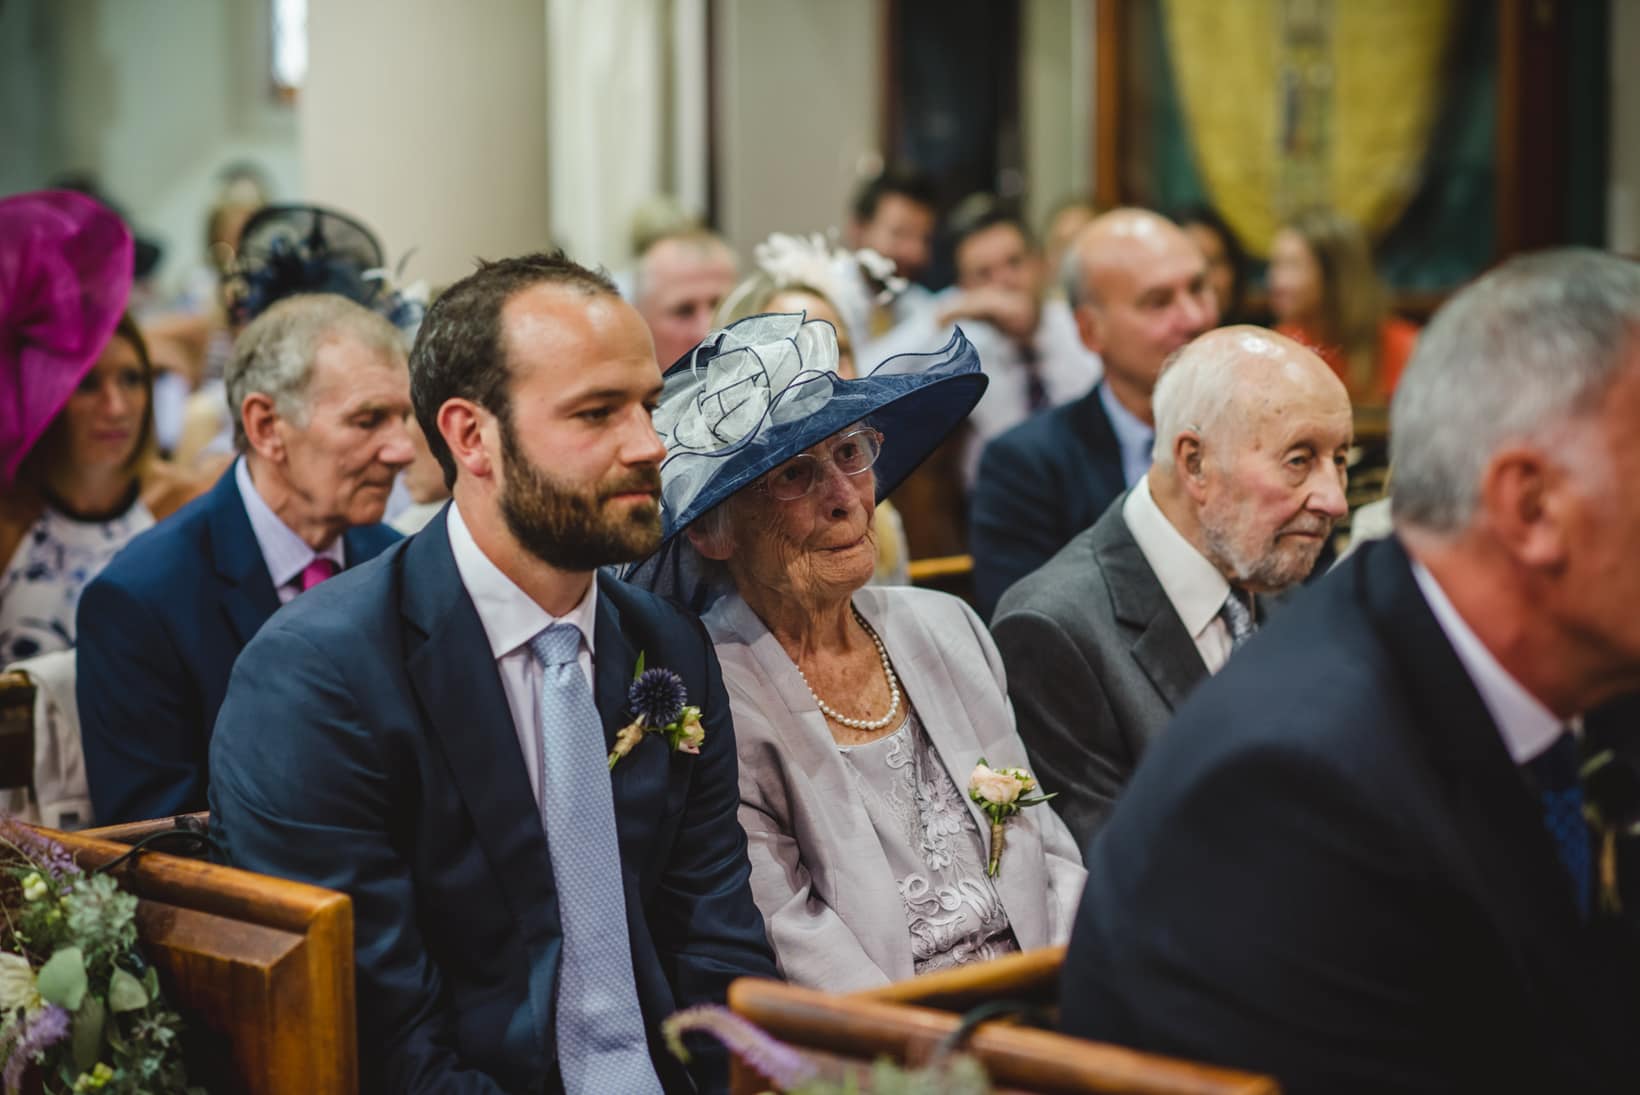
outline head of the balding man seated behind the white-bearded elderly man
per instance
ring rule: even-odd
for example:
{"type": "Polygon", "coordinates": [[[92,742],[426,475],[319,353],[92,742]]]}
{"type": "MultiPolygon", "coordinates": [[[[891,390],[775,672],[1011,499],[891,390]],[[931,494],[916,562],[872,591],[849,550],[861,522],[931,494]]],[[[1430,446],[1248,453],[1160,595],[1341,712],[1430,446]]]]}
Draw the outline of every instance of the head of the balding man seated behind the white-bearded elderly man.
{"type": "Polygon", "coordinates": [[[1205,256],[1166,216],[1120,208],[1082,229],[1068,266],[1082,343],[1104,359],[1117,400],[1150,421],[1163,362],[1219,323],[1205,256]]]}

